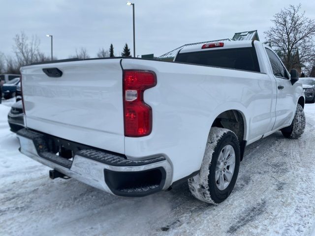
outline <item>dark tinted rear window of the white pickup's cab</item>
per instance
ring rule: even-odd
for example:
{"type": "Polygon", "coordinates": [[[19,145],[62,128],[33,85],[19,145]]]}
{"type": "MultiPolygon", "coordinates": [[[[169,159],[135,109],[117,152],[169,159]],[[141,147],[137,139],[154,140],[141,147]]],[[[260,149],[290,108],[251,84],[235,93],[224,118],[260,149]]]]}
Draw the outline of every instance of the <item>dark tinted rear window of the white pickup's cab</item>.
{"type": "Polygon", "coordinates": [[[175,61],[260,72],[254,47],[179,53],[175,61]]]}

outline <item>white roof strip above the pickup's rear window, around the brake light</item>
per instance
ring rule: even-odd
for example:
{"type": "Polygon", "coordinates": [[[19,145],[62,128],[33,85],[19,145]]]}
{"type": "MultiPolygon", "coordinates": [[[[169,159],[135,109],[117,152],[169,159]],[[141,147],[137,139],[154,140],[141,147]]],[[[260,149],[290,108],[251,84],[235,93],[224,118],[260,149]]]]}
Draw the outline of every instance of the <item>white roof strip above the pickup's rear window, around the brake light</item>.
{"type": "MultiPolygon", "coordinates": [[[[246,48],[252,47],[252,40],[241,40],[241,41],[218,41],[217,43],[223,43],[223,47],[214,47],[214,48],[205,48],[202,49],[202,45],[192,45],[183,48],[180,53],[189,53],[189,52],[198,52],[198,51],[207,51],[207,50],[220,50],[220,49],[228,49],[228,48],[246,48]]],[[[212,42],[211,44],[216,43],[212,42]]]]}

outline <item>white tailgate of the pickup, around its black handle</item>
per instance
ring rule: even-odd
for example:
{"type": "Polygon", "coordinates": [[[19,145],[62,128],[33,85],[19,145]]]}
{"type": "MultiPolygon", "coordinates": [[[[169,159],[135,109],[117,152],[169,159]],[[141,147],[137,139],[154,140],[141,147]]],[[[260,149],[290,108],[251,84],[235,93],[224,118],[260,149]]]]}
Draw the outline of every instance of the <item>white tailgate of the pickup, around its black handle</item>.
{"type": "Polygon", "coordinates": [[[124,153],[121,59],[77,60],[22,67],[28,128],[124,153]],[[44,68],[58,68],[50,77],[44,68]]]}

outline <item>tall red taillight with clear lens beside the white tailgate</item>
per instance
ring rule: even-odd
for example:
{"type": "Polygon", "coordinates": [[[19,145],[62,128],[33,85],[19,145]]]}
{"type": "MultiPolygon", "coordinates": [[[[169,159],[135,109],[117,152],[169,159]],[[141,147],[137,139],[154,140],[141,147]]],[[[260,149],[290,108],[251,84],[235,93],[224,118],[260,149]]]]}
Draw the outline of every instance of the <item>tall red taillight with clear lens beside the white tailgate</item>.
{"type": "Polygon", "coordinates": [[[156,85],[156,74],[152,71],[124,71],[125,136],[141,137],[151,133],[152,109],[143,101],[143,92],[156,85]]]}

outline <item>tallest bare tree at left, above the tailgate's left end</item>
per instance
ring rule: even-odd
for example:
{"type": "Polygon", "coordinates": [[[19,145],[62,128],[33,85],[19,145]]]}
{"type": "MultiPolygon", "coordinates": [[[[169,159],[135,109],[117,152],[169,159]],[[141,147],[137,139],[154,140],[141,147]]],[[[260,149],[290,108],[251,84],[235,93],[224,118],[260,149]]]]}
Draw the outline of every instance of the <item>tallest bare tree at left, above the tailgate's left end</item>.
{"type": "Polygon", "coordinates": [[[20,66],[31,64],[38,61],[38,48],[40,41],[35,35],[29,40],[28,36],[22,31],[14,37],[13,52],[17,63],[20,66]]]}

